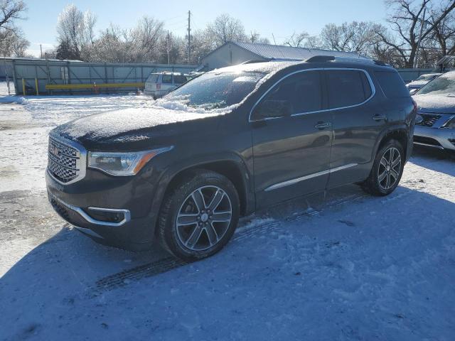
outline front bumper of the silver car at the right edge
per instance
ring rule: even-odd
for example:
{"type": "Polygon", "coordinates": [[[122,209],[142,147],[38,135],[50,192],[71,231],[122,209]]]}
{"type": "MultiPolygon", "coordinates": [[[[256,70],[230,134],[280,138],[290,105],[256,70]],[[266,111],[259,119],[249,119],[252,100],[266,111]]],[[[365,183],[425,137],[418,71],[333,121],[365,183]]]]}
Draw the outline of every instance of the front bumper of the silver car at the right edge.
{"type": "Polygon", "coordinates": [[[414,144],[455,151],[455,129],[415,126],[414,144]]]}

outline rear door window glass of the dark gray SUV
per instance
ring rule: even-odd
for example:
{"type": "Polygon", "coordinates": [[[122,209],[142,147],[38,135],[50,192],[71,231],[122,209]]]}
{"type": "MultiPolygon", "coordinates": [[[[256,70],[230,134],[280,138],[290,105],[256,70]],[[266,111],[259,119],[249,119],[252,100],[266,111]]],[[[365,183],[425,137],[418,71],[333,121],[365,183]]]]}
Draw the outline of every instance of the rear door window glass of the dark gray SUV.
{"type": "Polygon", "coordinates": [[[360,70],[325,70],[328,107],[350,107],[365,102],[371,94],[370,82],[360,70]]]}

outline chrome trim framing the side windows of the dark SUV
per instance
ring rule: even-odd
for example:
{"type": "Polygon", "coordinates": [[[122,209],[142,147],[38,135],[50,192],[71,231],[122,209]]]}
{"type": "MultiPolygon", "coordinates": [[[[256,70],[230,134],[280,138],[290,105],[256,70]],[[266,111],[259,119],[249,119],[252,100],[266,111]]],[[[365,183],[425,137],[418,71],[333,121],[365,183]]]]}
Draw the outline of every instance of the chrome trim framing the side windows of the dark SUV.
{"type": "Polygon", "coordinates": [[[376,88],[375,88],[375,85],[373,83],[373,80],[370,77],[370,74],[366,70],[357,69],[357,68],[353,68],[353,67],[316,67],[316,68],[311,68],[311,69],[298,70],[298,71],[291,72],[291,73],[281,77],[279,80],[277,80],[277,82],[274,82],[274,84],[271,87],[269,87],[269,89],[266,92],[264,92],[264,94],[262,94],[261,97],[259,97],[259,99],[256,101],[255,105],[253,105],[252,109],[250,110],[250,115],[248,116],[248,121],[249,122],[255,122],[255,121],[267,121],[269,119],[282,119],[283,117],[269,117],[269,118],[264,118],[264,119],[253,119],[252,120],[251,119],[251,115],[252,115],[252,112],[257,107],[257,104],[259,104],[259,102],[261,102],[261,100],[265,97],[265,95],[267,95],[275,87],[275,85],[277,85],[279,82],[282,82],[282,80],[286,79],[287,77],[289,77],[291,75],[295,75],[296,73],[300,73],[300,72],[324,71],[324,70],[355,70],[355,71],[362,71],[363,73],[365,73],[365,76],[367,77],[368,82],[370,83],[370,87],[371,87],[371,95],[370,95],[370,97],[368,97],[367,99],[365,99],[365,101],[363,101],[361,103],[348,105],[347,107],[336,107],[336,108],[331,108],[331,109],[321,109],[321,110],[316,110],[314,112],[298,112],[296,114],[291,114],[291,117],[300,116],[300,115],[306,115],[306,114],[315,114],[317,112],[330,112],[332,110],[341,110],[341,109],[348,109],[348,108],[358,107],[358,106],[363,105],[366,102],[370,101],[370,99],[372,99],[373,97],[375,97],[376,88]]]}

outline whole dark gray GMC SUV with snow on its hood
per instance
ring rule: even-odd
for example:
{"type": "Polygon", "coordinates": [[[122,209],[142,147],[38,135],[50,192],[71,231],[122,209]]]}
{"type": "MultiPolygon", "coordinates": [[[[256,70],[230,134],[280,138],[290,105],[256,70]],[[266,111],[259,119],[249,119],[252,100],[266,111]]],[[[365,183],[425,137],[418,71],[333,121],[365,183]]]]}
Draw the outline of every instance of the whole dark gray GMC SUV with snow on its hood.
{"type": "Polygon", "coordinates": [[[240,215],[346,183],[388,195],[412,151],[415,104],[373,60],[318,56],[206,72],[137,109],[50,132],[55,210],[98,242],[186,261],[240,215]]]}

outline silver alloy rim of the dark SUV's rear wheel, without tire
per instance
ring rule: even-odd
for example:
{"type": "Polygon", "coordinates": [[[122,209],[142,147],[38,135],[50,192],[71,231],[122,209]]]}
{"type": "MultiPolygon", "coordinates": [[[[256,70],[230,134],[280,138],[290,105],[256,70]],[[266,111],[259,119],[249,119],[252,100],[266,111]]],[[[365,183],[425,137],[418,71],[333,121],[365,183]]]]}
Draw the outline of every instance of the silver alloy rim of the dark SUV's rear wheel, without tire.
{"type": "Polygon", "coordinates": [[[395,148],[388,148],[382,158],[378,168],[378,182],[382,190],[390,190],[400,178],[401,172],[401,153],[395,148]]]}

